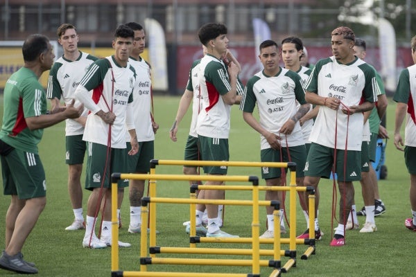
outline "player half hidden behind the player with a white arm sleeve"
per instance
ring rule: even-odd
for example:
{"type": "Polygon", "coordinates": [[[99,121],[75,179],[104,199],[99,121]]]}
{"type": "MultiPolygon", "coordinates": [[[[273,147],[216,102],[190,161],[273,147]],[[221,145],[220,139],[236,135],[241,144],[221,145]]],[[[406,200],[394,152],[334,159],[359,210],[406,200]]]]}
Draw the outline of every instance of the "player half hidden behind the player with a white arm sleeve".
{"type": "MultiPolygon", "coordinates": [[[[133,115],[135,118],[135,129],[137,141],[139,141],[139,152],[128,156],[128,172],[146,174],[150,172],[150,160],[155,156],[155,134],[159,125],[155,123],[152,116],[153,98],[152,82],[150,80],[150,64],[140,54],[144,52],[146,35],[144,29],[136,22],[125,24],[135,31],[135,43],[130,54],[129,62],[136,71],[136,85],[133,89],[133,115]]],[[[126,135],[127,151],[130,149],[130,136],[126,135]]],[[[130,199],[130,224],[129,233],[140,233],[141,231],[141,197],[144,194],[145,180],[129,180],[130,199]]]]}

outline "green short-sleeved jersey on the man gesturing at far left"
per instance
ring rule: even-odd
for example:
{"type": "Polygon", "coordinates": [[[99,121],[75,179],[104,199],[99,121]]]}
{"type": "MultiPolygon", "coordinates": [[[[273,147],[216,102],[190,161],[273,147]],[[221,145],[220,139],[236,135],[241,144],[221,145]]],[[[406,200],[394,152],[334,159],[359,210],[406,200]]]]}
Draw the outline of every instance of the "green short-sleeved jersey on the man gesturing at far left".
{"type": "Polygon", "coordinates": [[[46,93],[31,69],[13,73],[4,87],[0,139],[14,148],[37,154],[43,129],[31,131],[25,118],[46,114],[46,93]]]}

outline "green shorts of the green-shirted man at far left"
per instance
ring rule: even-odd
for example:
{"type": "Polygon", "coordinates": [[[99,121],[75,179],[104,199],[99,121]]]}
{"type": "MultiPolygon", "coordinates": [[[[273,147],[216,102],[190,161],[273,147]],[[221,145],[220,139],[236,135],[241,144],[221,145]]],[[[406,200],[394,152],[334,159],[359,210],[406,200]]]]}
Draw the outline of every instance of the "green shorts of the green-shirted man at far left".
{"type": "Polygon", "coordinates": [[[19,199],[46,196],[45,171],[39,154],[15,149],[0,159],[4,195],[17,195],[19,199]]]}

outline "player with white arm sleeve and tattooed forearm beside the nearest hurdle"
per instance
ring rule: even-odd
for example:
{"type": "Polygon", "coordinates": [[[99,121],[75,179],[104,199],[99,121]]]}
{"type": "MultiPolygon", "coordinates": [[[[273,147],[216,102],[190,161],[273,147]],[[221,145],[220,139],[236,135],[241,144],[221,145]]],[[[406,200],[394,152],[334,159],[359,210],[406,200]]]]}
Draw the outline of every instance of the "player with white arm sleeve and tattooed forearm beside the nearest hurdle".
{"type": "MultiPolygon", "coordinates": [[[[94,62],[78,85],[75,96],[91,111],[87,116],[83,140],[87,141],[87,173],[85,188],[92,190],[87,204],[87,220],[83,247],[111,246],[112,172],[128,172],[127,154],[139,150],[132,114],[132,91],[136,82],[135,69],[128,62],[135,32],[128,26],[116,29],[112,46],[114,55],[94,62]],[[93,93],[89,91],[93,90],[93,93]],[[131,150],[125,151],[125,133],[130,133],[131,150]],[[96,210],[103,205],[101,240],[96,237],[96,210]]],[[[120,180],[119,188],[127,186],[120,180]]],[[[119,242],[120,247],[130,243],[119,242]]]]}

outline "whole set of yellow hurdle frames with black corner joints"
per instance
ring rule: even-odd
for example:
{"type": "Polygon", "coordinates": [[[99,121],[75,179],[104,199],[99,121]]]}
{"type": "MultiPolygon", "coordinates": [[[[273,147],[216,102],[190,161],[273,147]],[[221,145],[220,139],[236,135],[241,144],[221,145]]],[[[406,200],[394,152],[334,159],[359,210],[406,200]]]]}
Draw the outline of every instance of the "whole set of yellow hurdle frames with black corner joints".
{"type": "Polygon", "coordinates": [[[263,163],[263,162],[246,162],[246,161],[180,161],[180,160],[152,160],[150,161],[150,174],[124,174],[114,173],[112,175],[112,245],[117,245],[119,238],[119,229],[116,228],[116,199],[117,199],[117,180],[119,179],[141,179],[149,180],[149,197],[142,199],[141,214],[141,249],[140,249],[140,271],[119,271],[119,248],[112,247],[112,276],[260,276],[260,267],[274,267],[271,276],[279,276],[281,272],[287,272],[288,269],[295,266],[296,263],[296,244],[309,244],[308,249],[302,255],[302,259],[307,259],[315,253],[314,230],[310,228],[309,239],[296,238],[296,195],[298,191],[309,191],[309,224],[314,224],[315,195],[310,187],[296,186],[295,163],[263,163]],[[157,165],[175,165],[175,166],[241,166],[241,167],[280,167],[291,168],[290,186],[266,187],[259,186],[259,179],[255,176],[229,176],[229,175],[157,175],[155,166],[157,165]],[[156,186],[158,180],[174,181],[243,181],[252,182],[252,186],[196,186],[191,188],[189,199],[182,198],[163,198],[156,197],[156,186]],[[226,199],[197,199],[196,189],[203,190],[252,190],[252,200],[226,200],[226,199]],[[277,201],[259,200],[259,190],[284,190],[290,193],[290,238],[280,238],[280,214],[279,203],[277,201]],[[174,203],[189,204],[191,215],[191,243],[188,247],[156,247],[156,204],[157,203],[174,203]],[[200,238],[196,237],[196,219],[194,216],[196,204],[225,204],[252,206],[252,238],[200,238]],[[259,206],[275,206],[273,215],[275,216],[275,238],[259,238],[259,206]],[[148,227],[149,244],[148,244],[148,227]],[[211,249],[196,248],[198,242],[224,242],[224,243],[245,243],[252,244],[252,249],[211,249]],[[260,244],[273,244],[272,250],[260,249],[260,244]],[[289,250],[281,250],[281,244],[289,244],[289,250]],[[150,247],[148,247],[148,245],[150,247]],[[148,256],[148,250],[150,256],[148,256]],[[249,260],[227,260],[227,259],[183,259],[183,258],[156,258],[157,253],[194,253],[194,254],[214,254],[214,255],[241,255],[252,256],[249,260]],[[272,260],[260,260],[260,256],[272,256],[272,260]],[[289,260],[281,267],[281,256],[288,256],[289,260]],[[146,258],[148,257],[148,258],[146,258]],[[171,265],[227,265],[227,266],[251,266],[251,274],[210,274],[194,272],[152,272],[147,271],[147,265],[150,264],[171,264],[171,265]]]}

